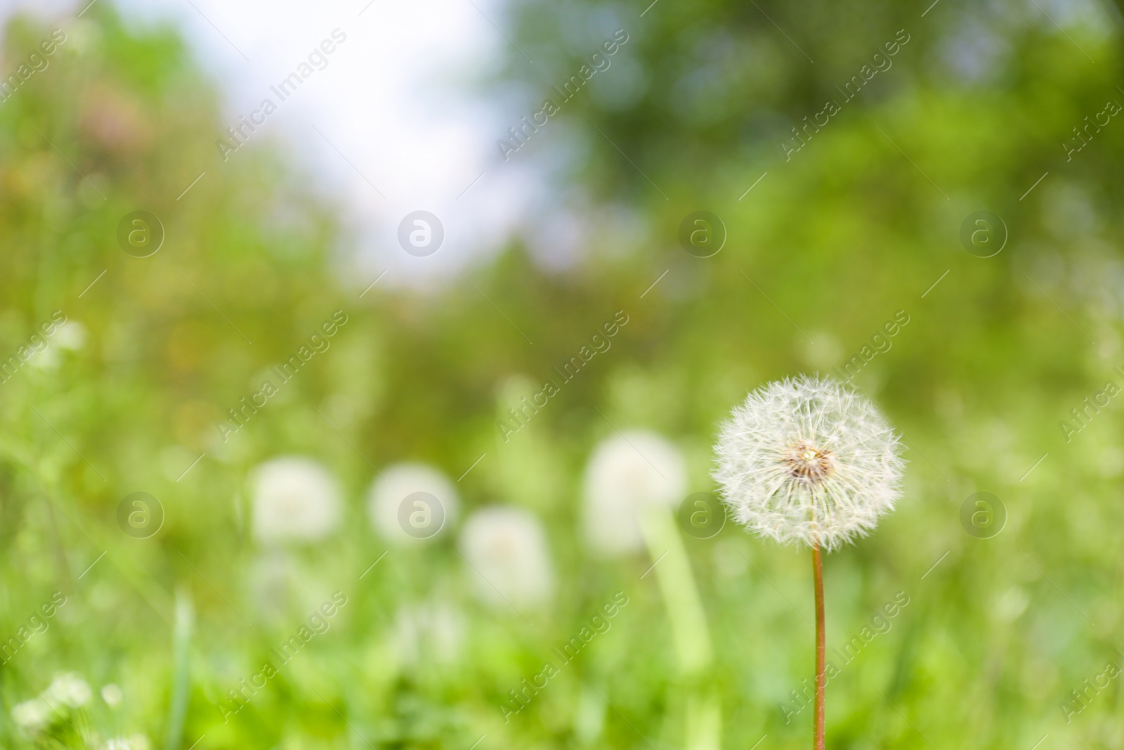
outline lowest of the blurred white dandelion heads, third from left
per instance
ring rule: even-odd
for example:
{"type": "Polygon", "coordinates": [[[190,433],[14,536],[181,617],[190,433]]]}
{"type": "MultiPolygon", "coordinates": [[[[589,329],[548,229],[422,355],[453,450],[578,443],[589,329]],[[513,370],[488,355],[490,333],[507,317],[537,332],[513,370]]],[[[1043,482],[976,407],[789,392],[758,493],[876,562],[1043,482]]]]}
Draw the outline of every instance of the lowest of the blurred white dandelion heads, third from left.
{"type": "Polygon", "coordinates": [[[477,595],[496,608],[537,605],[554,593],[554,570],[546,534],[522,508],[490,507],[464,522],[461,553],[477,595]]]}

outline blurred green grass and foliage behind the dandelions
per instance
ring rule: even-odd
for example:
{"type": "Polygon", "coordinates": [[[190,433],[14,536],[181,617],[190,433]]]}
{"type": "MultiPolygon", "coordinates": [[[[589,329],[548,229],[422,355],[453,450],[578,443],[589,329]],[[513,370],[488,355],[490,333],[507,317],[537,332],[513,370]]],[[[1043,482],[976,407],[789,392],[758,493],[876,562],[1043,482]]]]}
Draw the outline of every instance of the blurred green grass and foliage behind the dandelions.
{"type": "MultiPolygon", "coordinates": [[[[1046,733],[1124,744],[1120,680],[1070,723],[1059,711],[1124,657],[1117,407],[1070,441],[1059,426],[1106,380],[1120,383],[1112,369],[1124,363],[1124,126],[1072,161],[1060,146],[1106,100],[1124,101],[1118,13],[1051,3],[1060,34],[1014,2],[943,0],[924,17],[879,1],[642,10],[514,8],[536,60],[511,56],[505,85],[517,81],[534,105],[516,116],[616,28],[631,35],[595,80],[606,90],[575,97],[560,127],[515,156],[573,156],[556,174],[571,186],[560,201],[597,207],[582,214],[580,260],[546,270],[516,240],[473,269],[484,295],[388,286],[362,299],[365,283],[341,280],[333,206],[273,144],[208,169],[176,200],[215,163],[224,126],[214,82],[173,30],[127,30],[106,2],[66,24],[49,66],[0,103],[0,356],[56,310],[85,332],[0,386],[0,638],[53,593],[69,597],[0,667],[0,744],[73,746],[80,732],[163,744],[184,679],[179,597],[194,625],[184,726],[169,748],[201,735],[201,750],[466,750],[481,735],[482,750],[680,747],[700,683],[720,696],[724,746],[767,734],[762,750],[806,747],[810,712],[786,724],[778,708],[813,669],[806,555],[732,526],[685,537],[716,653],[706,675],[685,676],[660,590],[641,579],[653,560],[598,560],[582,543],[582,470],[614,425],[646,427],[685,451],[692,491],[710,489],[716,424],[749,389],[831,371],[898,310],[908,325],[855,385],[907,439],[906,495],[871,539],[827,558],[828,648],[898,591],[910,599],[828,686],[830,746],[1030,748],[1046,733]],[[903,28],[910,40],[892,67],[786,161],[790,128],[903,28]],[[116,243],[137,209],[166,233],[147,259],[116,243]],[[728,233],[713,257],[678,244],[698,209],[728,233]],[[1009,231],[988,259],[959,242],[981,209],[1009,231]],[[329,352],[223,443],[215,423],[336,309],[350,319],[329,352]],[[613,349],[505,443],[497,419],[617,310],[629,323],[613,349]],[[288,453],[339,478],[346,523],[329,543],[280,553],[285,594],[266,606],[255,571],[278,553],[248,533],[247,477],[288,453]],[[359,579],[387,549],[364,507],[375,467],[423,460],[456,478],[482,453],[457,485],[468,508],[523,505],[549,528],[560,585],[533,624],[472,599],[452,534],[395,549],[359,579]],[[136,490],[166,513],[148,540],[117,527],[120,498],[136,490]],[[1006,505],[994,539],[960,523],[978,490],[1006,505]],[[348,597],[332,630],[224,723],[217,702],[325,589],[348,597]],[[616,591],[631,603],[613,629],[505,724],[507,692],[616,591]],[[407,658],[404,613],[434,603],[464,613],[462,644],[443,653],[423,627],[407,658]],[[55,734],[29,738],[12,707],[71,670],[96,692],[120,685],[124,701],[96,697],[55,734]]],[[[3,71],[48,31],[12,21],[3,71]]]]}

